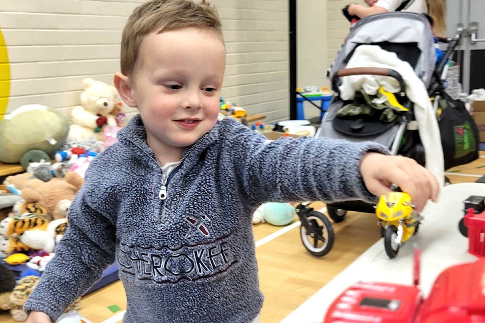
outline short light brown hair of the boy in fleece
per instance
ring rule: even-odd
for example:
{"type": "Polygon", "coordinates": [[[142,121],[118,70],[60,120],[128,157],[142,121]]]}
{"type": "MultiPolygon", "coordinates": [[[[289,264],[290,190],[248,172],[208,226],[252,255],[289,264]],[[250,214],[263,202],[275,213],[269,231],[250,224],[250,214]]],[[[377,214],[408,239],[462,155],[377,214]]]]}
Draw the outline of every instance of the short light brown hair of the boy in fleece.
{"type": "Polygon", "coordinates": [[[121,38],[121,73],[132,75],[144,36],[187,27],[213,29],[222,39],[219,15],[206,0],[198,4],[191,0],[152,0],[135,8],[121,38]]]}

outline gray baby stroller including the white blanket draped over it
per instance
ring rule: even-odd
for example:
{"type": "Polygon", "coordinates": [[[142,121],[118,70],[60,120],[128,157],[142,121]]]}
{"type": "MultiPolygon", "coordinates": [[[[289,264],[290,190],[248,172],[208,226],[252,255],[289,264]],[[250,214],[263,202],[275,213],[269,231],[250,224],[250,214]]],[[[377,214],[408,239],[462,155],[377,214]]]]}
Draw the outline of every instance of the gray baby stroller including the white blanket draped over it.
{"type": "MultiPolygon", "coordinates": [[[[449,42],[442,62],[451,56],[458,39],[459,35],[449,42]]],[[[392,154],[415,159],[444,181],[440,129],[429,97],[443,90],[445,64],[435,63],[434,37],[426,16],[394,12],[359,20],[331,67],[336,95],[316,136],[378,142],[392,154]],[[387,103],[381,111],[369,112],[359,105],[374,99],[382,102],[384,96],[387,103]]],[[[375,211],[374,204],[360,200],[327,203],[335,223],[344,221],[348,210],[375,211]]]]}

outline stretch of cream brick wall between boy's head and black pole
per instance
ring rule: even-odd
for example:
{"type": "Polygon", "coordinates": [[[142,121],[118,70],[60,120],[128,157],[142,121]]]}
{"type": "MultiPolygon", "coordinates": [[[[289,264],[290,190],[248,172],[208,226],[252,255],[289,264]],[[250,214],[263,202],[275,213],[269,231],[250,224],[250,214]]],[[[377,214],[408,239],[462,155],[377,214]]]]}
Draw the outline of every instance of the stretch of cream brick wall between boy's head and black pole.
{"type": "Polygon", "coordinates": [[[289,117],[288,1],[213,0],[222,18],[227,67],[222,96],[265,122],[289,117]]]}

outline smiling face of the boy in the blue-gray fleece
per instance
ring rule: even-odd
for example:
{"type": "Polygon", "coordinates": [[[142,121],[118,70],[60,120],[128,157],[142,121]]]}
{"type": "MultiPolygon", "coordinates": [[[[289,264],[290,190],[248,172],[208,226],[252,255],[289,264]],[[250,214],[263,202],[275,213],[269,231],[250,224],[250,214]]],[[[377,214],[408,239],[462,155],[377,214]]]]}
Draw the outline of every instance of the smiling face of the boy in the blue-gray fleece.
{"type": "Polygon", "coordinates": [[[213,30],[183,28],[143,39],[130,87],[156,153],[182,151],[214,127],[224,69],[223,40],[213,30]]]}

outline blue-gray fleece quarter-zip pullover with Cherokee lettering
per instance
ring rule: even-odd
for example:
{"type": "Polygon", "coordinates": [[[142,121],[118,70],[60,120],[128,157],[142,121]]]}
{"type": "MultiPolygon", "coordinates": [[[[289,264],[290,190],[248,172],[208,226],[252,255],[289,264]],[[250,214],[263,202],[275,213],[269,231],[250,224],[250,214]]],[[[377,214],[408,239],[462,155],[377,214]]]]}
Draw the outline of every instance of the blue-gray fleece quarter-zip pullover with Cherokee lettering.
{"type": "Polygon", "coordinates": [[[374,200],[359,174],[374,143],[302,137],[267,142],[228,118],[163,175],[139,116],[96,157],[69,228],[25,303],[55,320],[114,261],[126,323],[250,322],[263,295],[252,214],[267,201],[374,200]],[[163,195],[163,194],[162,194],[163,195]]]}

